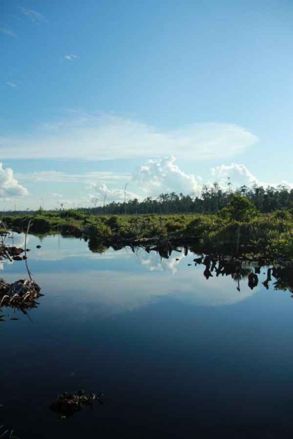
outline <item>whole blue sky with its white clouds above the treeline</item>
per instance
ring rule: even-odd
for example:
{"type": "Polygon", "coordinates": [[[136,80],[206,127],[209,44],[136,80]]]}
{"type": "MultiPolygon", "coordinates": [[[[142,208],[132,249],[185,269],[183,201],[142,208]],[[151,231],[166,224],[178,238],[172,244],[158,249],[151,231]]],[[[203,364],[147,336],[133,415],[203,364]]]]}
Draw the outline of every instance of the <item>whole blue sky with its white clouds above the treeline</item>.
{"type": "Polygon", "coordinates": [[[0,4],[2,209],[292,178],[293,3],[0,4]]]}

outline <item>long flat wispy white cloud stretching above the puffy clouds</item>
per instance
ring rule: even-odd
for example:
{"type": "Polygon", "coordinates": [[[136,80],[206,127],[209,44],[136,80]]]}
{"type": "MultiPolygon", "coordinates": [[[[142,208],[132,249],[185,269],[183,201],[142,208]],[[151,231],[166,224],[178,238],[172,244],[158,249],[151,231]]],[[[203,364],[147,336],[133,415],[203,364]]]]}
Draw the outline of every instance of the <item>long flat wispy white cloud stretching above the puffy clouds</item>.
{"type": "Polygon", "coordinates": [[[224,160],[258,141],[237,125],[198,123],[158,130],[135,120],[110,115],[74,115],[47,123],[29,134],[0,140],[2,158],[114,160],[162,158],[224,160]]]}

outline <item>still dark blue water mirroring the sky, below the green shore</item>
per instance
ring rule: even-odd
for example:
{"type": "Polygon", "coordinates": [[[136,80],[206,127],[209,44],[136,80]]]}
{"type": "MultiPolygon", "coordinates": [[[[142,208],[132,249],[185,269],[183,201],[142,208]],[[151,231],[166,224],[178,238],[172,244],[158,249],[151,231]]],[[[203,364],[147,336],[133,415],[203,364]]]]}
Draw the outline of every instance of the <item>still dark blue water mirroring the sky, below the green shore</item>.
{"type": "MultiPolygon", "coordinates": [[[[21,439],[292,438],[293,301],[274,278],[263,286],[265,270],[251,290],[247,278],[206,279],[184,251],[95,254],[59,236],[30,236],[28,247],[45,296],[30,319],[1,310],[5,429],[21,439]],[[104,404],[59,420],[49,405],[81,388],[104,392],[104,404]]],[[[24,261],[0,268],[8,282],[27,278],[24,261]]]]}

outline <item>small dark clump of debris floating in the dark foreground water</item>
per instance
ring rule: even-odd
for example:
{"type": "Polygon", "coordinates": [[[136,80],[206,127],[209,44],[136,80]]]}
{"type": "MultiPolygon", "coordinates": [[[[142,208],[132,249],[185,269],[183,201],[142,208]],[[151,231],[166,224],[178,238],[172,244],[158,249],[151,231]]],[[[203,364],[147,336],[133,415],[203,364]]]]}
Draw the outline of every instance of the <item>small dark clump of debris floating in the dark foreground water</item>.
{"type": "Polygon", "coordinates": [[[80,389],[78,395],[64,392],[62,395],[58,395],[56,401],[50,405],[50,409],[57,412],[59,419],[66,419],[72,417],[75,412],[81,411],[84,404],[92,407],[95,400],[103,404],[101,399],[103,396],[103,393],[96,396],[92,392],[86,396],[84,389],[80,389]]]}

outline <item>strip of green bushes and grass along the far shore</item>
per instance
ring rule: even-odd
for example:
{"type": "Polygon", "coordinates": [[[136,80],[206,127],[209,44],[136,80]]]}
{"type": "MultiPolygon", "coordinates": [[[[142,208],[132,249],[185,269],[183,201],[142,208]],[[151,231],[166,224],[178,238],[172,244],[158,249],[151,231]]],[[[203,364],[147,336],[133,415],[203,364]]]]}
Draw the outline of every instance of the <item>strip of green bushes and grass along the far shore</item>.
{"type": "Polygon", "coordinates": [[[245,195],[234,193],[226,207],[203,214],[96,215],[79,210],[45,211],[34,215],[2,215],[7,228],[25,230],[31,220],[31,232],[55,232],[84,237],[89,247],[110,246],[117,240],[124,245],[139,239],[165,237],[188,240],[197,238],[202,251],[253,253],[268,258],[293,261],[293,209],[259,212],[245,195]]]}

